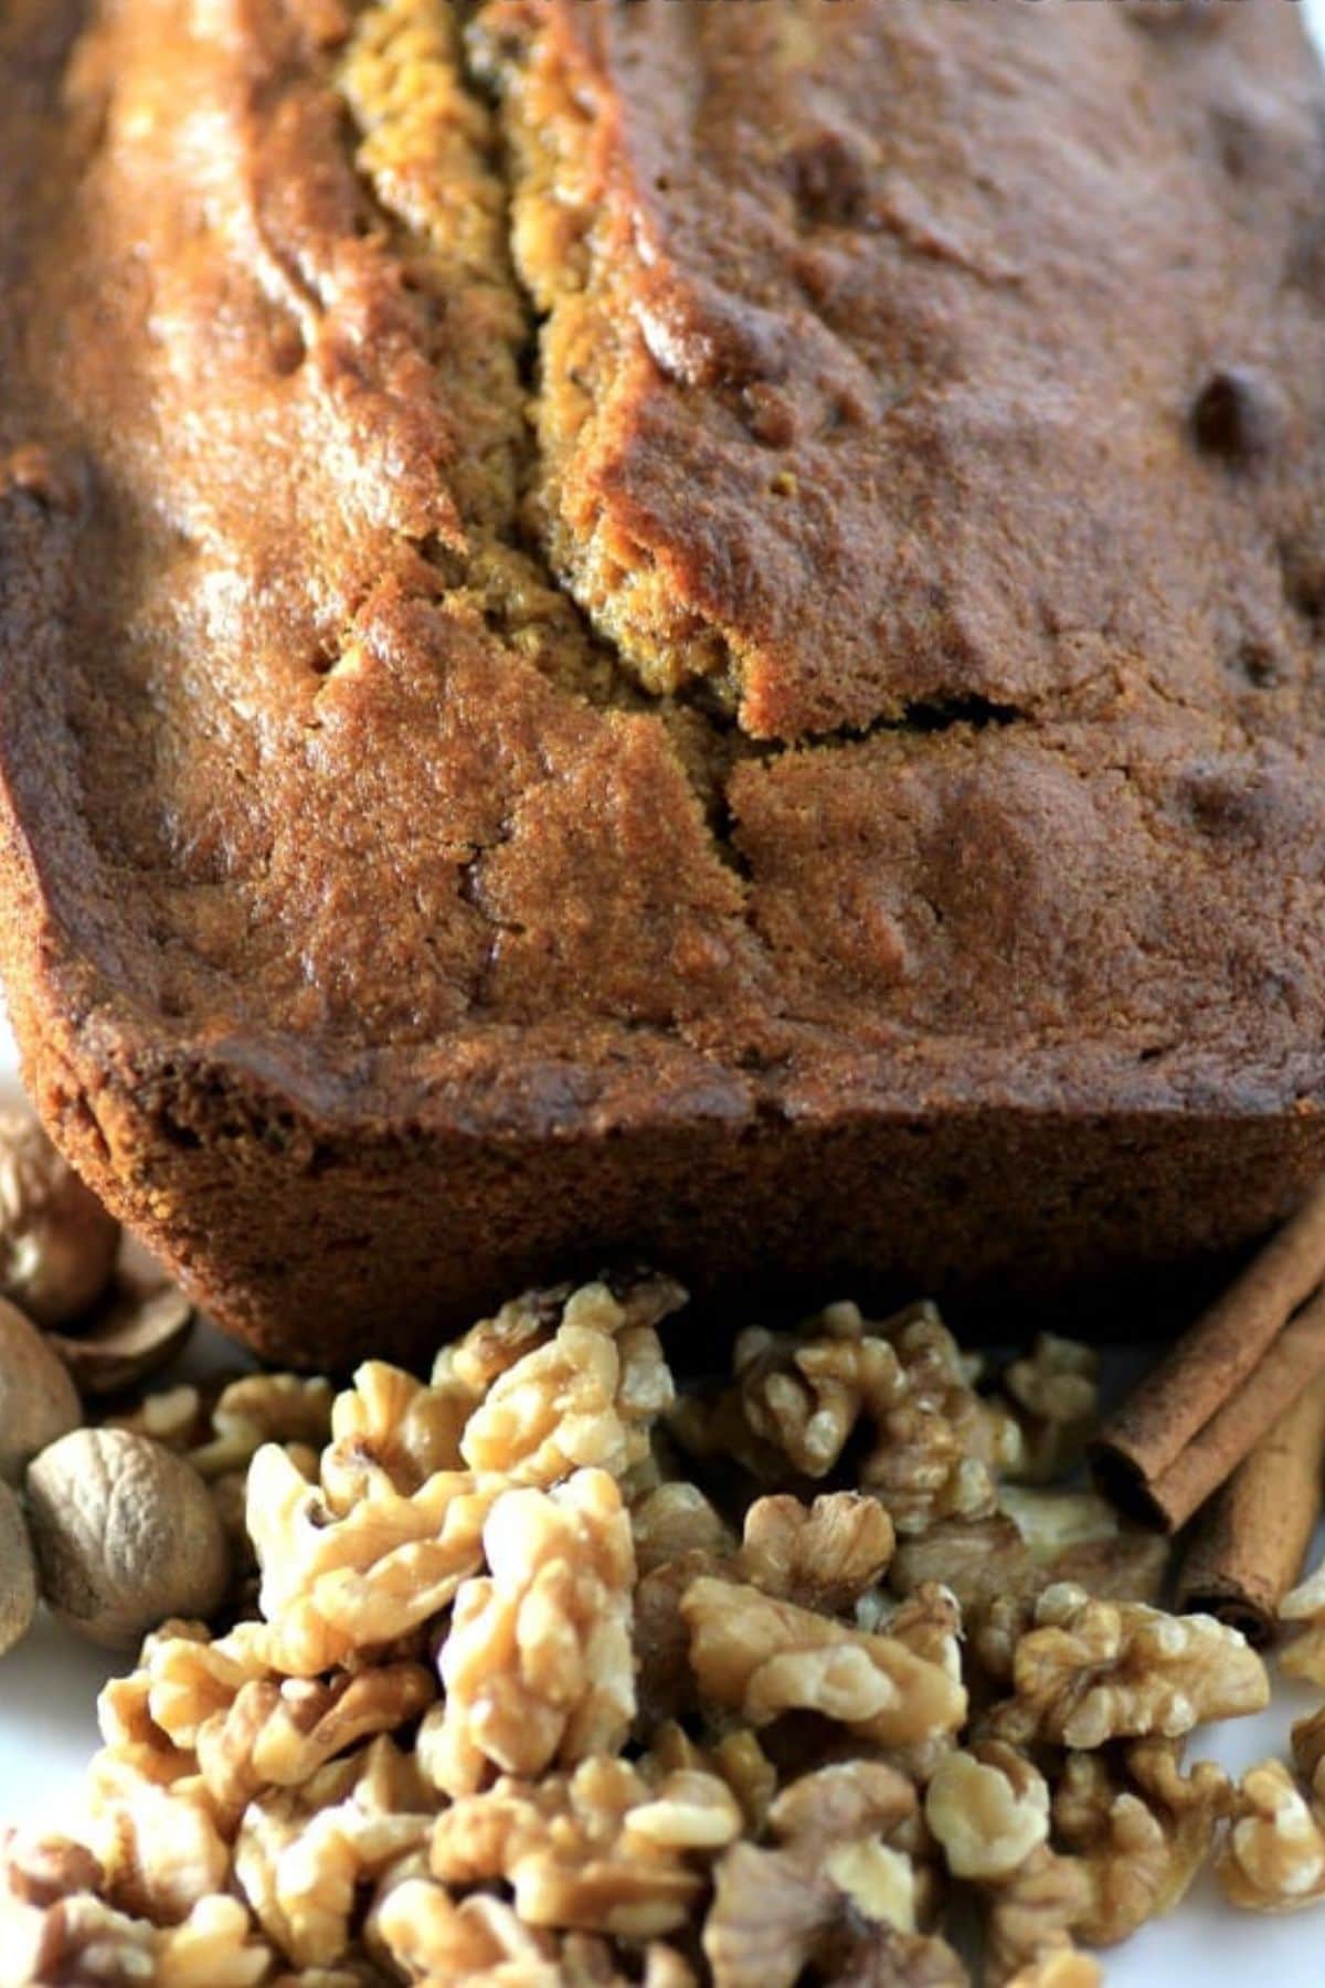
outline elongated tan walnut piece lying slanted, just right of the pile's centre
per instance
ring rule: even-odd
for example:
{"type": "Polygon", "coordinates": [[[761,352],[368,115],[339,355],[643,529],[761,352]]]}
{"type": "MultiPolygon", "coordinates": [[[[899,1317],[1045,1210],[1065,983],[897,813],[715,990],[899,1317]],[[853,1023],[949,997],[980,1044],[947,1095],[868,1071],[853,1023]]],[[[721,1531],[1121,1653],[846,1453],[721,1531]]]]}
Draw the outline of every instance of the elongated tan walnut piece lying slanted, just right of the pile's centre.
{"type": "Polygon", "coordinates": [[[701,1694],[755,1728],[785,1712],[818,1712],[860,1740],[914,1745],[965,1718],[963,1688],[894,1636],[713,1576],[689,1584],[681,1616],[701,1694]]]}

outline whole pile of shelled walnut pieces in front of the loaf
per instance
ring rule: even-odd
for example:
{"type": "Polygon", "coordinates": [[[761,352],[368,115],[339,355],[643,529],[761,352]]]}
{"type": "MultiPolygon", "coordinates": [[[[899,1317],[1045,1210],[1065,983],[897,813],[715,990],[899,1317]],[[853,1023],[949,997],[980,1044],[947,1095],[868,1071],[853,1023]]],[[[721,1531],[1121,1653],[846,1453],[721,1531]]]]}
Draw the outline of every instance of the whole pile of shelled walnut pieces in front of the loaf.
{"type": "Polygon", "coordinates": [[[832,1304],[677,1394],[683,1302],[562,1284],[427,1378],[117,1417],[211,1489],[236,1580],[101,1694],[79,1827],[4,1845],[6,1984],[957,1988],[965,1899],[991,1988],[1095,1988],[1081,1946],[1212,1851],[1236,1903],[1325,1897],[1325,1714],[1301,1781],[1184,1767],[1263,1666],[1049,1487],[1087,1348],[985,1382],[934,1306],[832,1304]]]}

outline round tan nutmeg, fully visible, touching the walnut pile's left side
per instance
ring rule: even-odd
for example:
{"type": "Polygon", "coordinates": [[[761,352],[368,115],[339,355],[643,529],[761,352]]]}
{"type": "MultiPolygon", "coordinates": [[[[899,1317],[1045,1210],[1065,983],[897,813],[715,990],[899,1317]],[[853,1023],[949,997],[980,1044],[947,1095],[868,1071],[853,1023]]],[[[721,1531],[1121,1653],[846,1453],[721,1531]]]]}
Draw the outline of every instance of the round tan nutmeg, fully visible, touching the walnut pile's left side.
{"type": "Polygon", "coordinates": [[[230,1549],[211,1491],[183,1457],[129,1429],[75,1429],[28,1469],[42,1594],[107,1648],[224,1598],[230,1549]]]}

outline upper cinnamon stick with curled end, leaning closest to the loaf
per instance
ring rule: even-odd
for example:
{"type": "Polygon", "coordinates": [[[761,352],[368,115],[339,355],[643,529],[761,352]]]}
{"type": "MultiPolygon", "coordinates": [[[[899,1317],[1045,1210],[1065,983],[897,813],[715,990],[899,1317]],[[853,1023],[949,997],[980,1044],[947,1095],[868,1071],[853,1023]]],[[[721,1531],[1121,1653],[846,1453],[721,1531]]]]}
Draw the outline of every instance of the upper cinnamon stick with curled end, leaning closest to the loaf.
{"type": "Polygon", "coordinates": [[[1104,1423],[1093,1455],[1116,1503],[1176,1529],[1224,1483],[1325,1368],[1325,1302],[1305,1304],[1323,1280],[1325,1181],[1104,1423]]]}

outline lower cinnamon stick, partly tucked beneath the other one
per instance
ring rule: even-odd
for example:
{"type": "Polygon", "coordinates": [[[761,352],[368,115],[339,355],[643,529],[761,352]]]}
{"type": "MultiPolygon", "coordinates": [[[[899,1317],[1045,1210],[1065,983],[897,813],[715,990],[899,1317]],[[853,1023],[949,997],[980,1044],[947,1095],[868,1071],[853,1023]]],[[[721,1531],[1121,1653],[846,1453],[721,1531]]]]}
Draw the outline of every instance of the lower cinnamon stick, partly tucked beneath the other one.
{"type": "Polygon", "coordinates": [[[1269,1642],[1321,1513],[1325,1374],[1287,1408],[1206,1507],[1178,1574],[1178,1608],[1269,1642]]]}

